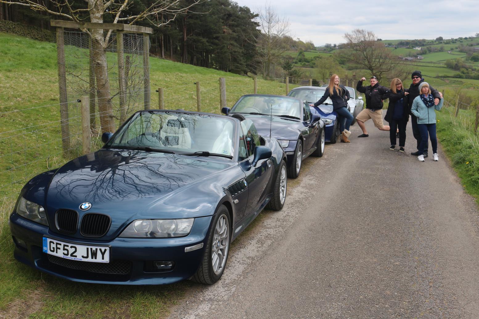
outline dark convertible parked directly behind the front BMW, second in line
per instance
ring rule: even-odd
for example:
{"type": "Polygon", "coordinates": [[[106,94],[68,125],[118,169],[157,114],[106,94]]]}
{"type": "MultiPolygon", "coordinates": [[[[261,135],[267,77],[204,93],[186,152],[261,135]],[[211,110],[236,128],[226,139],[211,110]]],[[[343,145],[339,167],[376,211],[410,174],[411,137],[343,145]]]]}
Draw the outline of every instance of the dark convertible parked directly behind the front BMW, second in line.
{"type": "Polygon", "coordinates": [[[296,178],[302,160],[324,154],[324,122],[302,100],[280,95],[243,95],[224,113],[250,119],[262,136],[275,137],[287,156],[288,176],[296,178]]]}

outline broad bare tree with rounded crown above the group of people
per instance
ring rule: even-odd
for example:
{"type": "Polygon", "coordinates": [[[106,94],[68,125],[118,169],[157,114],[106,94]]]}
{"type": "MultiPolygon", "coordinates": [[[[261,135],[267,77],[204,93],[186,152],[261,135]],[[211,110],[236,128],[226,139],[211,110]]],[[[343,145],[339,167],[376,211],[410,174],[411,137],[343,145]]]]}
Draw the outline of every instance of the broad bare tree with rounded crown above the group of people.
{"type": "Polygon", "coordinates": [[[351,63],[371,71],[378,80],[383,77],[402,78],[407,72],[399,57],[393,55],[381,41],[377,41],[373,32],[356,29],[351,33],[345,33],[344,39],[347,43],[340,55],[351,63]]]}

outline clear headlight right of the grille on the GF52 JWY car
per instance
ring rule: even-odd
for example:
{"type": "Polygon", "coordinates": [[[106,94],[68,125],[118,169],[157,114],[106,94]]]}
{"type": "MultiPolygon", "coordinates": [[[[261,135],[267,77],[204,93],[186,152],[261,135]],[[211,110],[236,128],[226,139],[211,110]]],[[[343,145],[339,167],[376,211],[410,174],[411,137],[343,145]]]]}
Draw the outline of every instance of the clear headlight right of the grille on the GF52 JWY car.
{"type": "Polygon", "coordinates": [[[190,233],[194,218],[178,220],[134,220],[119,237],[165,238],[190,233]]]}

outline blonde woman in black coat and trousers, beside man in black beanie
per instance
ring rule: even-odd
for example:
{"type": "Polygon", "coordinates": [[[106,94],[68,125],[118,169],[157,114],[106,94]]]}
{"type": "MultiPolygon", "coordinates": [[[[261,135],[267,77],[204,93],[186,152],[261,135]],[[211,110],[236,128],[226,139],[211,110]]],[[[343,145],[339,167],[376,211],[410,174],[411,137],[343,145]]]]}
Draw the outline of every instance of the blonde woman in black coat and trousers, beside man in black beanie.
{"type": "Polygon", "coordinates": [[[396,148],[396,132],[399,129],[399,152],[404,152],[406,143],[406,125],[409,121],[408,107],[409,90],[402,87],[399,78],[391,81],[391,90],[382,96],[382,99],[389,99],[388,111],[384,119],[389,122],[389,139],[391,140],[390,150],[396,148]]]}

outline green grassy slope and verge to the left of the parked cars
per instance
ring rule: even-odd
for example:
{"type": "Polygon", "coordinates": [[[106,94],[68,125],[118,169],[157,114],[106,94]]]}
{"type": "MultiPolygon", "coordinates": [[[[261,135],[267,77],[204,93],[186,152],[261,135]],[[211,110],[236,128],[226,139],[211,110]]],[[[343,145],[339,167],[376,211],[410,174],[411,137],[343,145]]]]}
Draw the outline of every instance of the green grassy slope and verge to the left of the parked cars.
{"type": "MultiPolygon", "coordinates": [[[[55,44],[0,33],[0,56],[0,113],[58,103],[55,44]]],[[[195,110],[194,82],[200,81],[202,110],[219,113],[218,77],[226,77],[230,107],[241,95],[253,92],[253,80],[248,77],[150,58],[152,107],[158,105],[154,90],[162,87],[166,108],[195,110]]],[[[258,80],[258,93],[285,94],[285,85],[258,80]]],[[[3,313],[15,317],[23,311],[26,316],[34,312],[32,318],[161,318],[167,314],[168,307],[191,283],[160,287],[84,285],[41,274],[13,259],[7,219],[20,188],[28,176],[57,167],[68,158],[61,156],[58,126],[42,125],[41,132],[5,138],[18,133],[9,132],[12,130],[58,121],[58,106],[4,113],[0,119],[0,317],[3,313]],[[23,149],[28,150],[11,154],[23,149]],[[27,164],[32,161],[36,162],[27,164]],[[23,166],[12,169],[18,165],[23,166]]]]}

